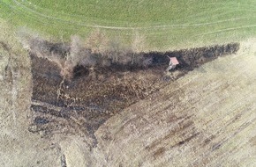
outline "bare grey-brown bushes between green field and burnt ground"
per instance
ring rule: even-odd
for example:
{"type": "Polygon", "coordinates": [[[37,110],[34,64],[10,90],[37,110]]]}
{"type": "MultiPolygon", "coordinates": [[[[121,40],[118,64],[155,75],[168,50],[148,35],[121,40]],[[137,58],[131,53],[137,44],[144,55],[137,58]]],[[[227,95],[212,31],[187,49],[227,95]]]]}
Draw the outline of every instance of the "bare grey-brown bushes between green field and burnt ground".
{"type": "Polygon", "coordinates": [[[77,66],[91,69],[113,64],[148,67],[152,63],[152,58],[138,54],[141,48],[136,46],[143,42],[138,36],[134,37],[132,47],[124,47],[118,39],[108,40],[99,30],[92,33],[87,41],[74,35],[71,44],[51,43],[36,35],[29,35],[24,30],[19,36],[31,54],[55,62],[66,79],[72,78],[73,69],[77,66]]]}

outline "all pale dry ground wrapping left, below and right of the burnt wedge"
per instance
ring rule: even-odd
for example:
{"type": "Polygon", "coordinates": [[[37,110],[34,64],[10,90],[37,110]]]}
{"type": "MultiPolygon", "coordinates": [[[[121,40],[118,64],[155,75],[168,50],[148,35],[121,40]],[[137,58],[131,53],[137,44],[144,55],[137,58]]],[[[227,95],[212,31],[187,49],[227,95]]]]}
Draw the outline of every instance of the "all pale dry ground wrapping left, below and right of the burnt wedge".
{"type": "Polygon", "coordinates": [[[1,52],[1,166],[254,166],[255,47],[255,40],[243,41],[237,54],[111,117],[95,132],[94,148],[77,135],[27,131],[29,57],[14,48],[8,56],[1,52]]]}

